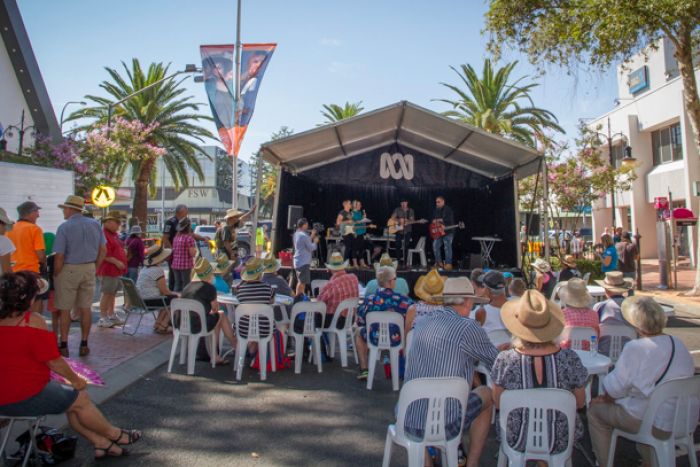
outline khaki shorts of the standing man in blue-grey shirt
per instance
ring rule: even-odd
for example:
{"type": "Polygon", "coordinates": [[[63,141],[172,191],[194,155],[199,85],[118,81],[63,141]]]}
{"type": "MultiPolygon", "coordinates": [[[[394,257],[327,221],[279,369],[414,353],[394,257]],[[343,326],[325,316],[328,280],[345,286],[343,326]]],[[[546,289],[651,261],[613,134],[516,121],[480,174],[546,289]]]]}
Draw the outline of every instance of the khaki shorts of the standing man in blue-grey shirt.
{"type": "Polygon", "coordinates": [[[95,264],[66,264],[54,283],[56,309],[89,309],[95,292],[95,264]]]}

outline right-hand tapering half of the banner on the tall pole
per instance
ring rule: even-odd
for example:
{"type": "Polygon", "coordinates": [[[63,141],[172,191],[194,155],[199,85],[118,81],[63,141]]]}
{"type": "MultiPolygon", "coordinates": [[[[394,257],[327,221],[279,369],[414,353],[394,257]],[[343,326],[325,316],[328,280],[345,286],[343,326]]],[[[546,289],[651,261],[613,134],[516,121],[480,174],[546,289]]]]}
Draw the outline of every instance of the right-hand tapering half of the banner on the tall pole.
{"type": "Polygon", "coordinates": [[[241,100],[236,110],[234,153],[238,154],[243,136],[255,110],[255,99],[263,75],[277,44],[243,44],[241,51],[241,100]]]}

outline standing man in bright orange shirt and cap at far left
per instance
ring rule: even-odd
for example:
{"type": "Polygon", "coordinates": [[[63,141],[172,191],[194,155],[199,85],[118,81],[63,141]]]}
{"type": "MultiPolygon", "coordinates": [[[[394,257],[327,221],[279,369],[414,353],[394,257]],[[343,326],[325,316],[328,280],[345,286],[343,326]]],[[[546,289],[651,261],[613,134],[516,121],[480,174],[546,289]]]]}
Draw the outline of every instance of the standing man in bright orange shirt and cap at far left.
{"type": "MultiPolygon", "coordinates": [[[[44,244],[44,232],[36,225],[39,218],[39,209],[33,201],[25,201],[17,206],[19,220],[7,233],[15,245],[15,252],[12,253],[12,262],[15,263],[12,270],[32,271],[37,274],[46,273],[46,247],[44,244]]],[[[37,296],[32,305],[32,311],[41,313],[44,309],[44,300],[48,298],[48,292],[37,296]]]]}

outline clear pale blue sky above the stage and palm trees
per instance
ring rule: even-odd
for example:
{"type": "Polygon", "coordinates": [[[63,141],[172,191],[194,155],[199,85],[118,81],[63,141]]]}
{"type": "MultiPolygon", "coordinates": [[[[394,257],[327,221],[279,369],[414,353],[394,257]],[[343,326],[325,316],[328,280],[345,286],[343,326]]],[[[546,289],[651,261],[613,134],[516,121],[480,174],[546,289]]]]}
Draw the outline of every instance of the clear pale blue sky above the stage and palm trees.
{"type": "MultiPolygon", "coordinates": [[[[18,0],[57,115],[67,101],[102,94],[105,66],[137,57],[142,63],[201,65],[201,44],[233,43],[235,0],[18,0]]],[[[450,65],[481,69],[486,57],[486,3],[481,0],[243,0],[243,42],[277,42],[241,148],[248,158],[270,134],[323,119],[321,106],[362,101],[372,110],[408,100],[447,110],[439,83],[457,83],[450,65]]],[[[533,74],[525,57],[515,76],[533,74]]],[[[610,110],[614,73],[572,77],[553,67],[538,79],[535,103],[557,115],[575,136],[580,117],[610,110]]],[[[203,84],[185,82],[206,104],[203,84]]],[[[75,107],[72,108],[73,110],[75,107]]],[[[209,115],[205,105],[201,111],[209,115]]],[[[215,133],[213,123],[208,124],[215,133]]]]}

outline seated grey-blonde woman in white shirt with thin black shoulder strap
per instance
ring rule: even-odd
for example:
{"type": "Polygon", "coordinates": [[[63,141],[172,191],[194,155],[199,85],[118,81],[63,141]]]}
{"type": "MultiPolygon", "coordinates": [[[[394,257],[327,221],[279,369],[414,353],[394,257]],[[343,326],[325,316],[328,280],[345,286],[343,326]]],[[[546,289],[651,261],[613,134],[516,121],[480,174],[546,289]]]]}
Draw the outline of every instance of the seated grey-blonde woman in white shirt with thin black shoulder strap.
{"type": "MultiPolygon", "coordinates": [[[[666,313],[651,297],[631,297],[622,303],[622,316],[635,327],[639,339],[622,348],[615,369],[603,380],[604,394],[588,408],[588,430],[598,465],[607,465],[614,428],[637,432],[654,388],[674,378],[693,376],[693,357],[677,337],[664,334],[666,313]]],[[[675,406],[667,402],[656,412],[653,434],[667,439],[675,406]]],[[[698,413],[697,401],[692,410],[698,413]]],[[[642,465],[651,465],[651,451],[638,445],[642,465]]]]}

